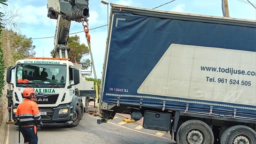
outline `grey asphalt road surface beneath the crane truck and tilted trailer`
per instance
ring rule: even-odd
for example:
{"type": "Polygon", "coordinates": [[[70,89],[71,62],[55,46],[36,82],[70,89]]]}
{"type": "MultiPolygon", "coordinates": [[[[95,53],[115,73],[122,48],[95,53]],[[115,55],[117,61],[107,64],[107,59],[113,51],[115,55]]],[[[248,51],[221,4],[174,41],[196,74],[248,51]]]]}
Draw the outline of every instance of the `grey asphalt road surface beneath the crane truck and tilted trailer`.
{"type": "MultiPolygon", "coordinates": [[[[171,141],[170,133],[143,129],[140,122],[122,122],[121,115],[100,125],[96,122],[97,118],[84,113],[77,127],[43,127],[38,132],[38,144],[175,144],[171,141]]],[[[17,126],[7,125],[4,143],[18,143],[17,126]]]]}

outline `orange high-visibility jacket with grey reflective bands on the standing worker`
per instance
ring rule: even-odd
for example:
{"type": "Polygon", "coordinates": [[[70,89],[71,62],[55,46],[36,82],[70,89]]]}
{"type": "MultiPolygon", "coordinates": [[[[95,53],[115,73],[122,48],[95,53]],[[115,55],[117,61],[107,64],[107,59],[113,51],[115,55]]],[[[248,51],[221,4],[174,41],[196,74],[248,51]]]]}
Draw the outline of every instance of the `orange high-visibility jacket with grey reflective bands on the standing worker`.
{"type": "Polygon", "coordinates": [[[25,99],[24,102],[18,105],[15,119],[21,125],[35,125],[42,122],[37,103],[31,99],[25,99]]]}

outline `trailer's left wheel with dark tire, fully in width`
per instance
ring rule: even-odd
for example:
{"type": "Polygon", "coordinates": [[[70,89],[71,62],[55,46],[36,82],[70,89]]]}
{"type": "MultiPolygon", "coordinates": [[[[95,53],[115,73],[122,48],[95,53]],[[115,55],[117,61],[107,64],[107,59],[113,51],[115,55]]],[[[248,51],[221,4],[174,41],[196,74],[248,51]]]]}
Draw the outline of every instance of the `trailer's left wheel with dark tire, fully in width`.
{"type": "Polygon", "coordinates": [[[200,120],[184,122],[177,131],[178,144],[213,144],[214,136],[211,128],[200,120]],[[189,136],[190,135],[190,136],[189,136]]]}

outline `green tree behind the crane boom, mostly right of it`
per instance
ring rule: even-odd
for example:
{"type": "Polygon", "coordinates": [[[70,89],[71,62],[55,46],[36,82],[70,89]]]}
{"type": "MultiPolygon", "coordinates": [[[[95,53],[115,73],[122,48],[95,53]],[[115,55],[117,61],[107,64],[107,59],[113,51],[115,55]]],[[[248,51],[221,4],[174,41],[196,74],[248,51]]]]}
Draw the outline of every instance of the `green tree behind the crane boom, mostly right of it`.
{"type": "MultiPolygon", "coordinates": [[[[70,47],[70,52],[68,53],[70,61],[73,63],[82,63],[82,69],[87,69],[90,64],[83,63],[90,63],[90,59],[83,59],[83,56],[90,53],[88,47],[85,44],[80,44],[80,38],[77,35],[69,37],[67,43],[70,47]]],[[[51,56],[54,56],[54,49],[51,51],[51,56]]]]}

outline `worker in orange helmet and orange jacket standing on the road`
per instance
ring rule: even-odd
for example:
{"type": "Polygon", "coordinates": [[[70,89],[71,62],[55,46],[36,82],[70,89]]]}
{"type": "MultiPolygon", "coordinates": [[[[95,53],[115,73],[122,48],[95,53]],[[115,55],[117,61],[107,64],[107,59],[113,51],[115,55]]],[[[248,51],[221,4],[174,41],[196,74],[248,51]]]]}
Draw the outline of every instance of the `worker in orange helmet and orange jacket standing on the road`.
{"type": "Polygon", "coordinates": [[[23,90],[25,101],[18,105],[15,120],[20,123],[20,131],[24,137],[24,144],[37,144],[36,125],[42,126],[38,105],[35,100],[35,91],[32,88],[23,90]]]}

